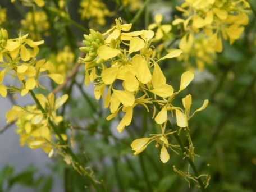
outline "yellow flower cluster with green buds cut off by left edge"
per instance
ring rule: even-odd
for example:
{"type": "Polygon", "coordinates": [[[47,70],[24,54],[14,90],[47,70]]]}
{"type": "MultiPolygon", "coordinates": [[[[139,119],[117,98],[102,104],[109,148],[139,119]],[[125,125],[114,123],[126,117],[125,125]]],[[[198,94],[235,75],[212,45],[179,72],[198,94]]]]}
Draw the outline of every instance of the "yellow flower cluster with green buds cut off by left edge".
{"type": "MultiPolygon", "coordinates": [[[[42,72],[48,72],[47,75],[57,84],[63,83],[63,77],[60,74],[50,73],[51,66],[45,60],[36,60],[39,52],[38,46],[44,41],[34,42],[28,38],[28,34],[19,35],[18,38],[9,39],[8,32],[0,29],[0,95],[6,97],[7,89],[11,92],[20,92],[22,96],[29,90],[41,86],[39,77],[42,72]],[[19,85],[4,85],[4,77],[8,75],[13,80],[19,80],[19,85]]],[[[42,86],[41,86],[42,87],[42,86]]]]}

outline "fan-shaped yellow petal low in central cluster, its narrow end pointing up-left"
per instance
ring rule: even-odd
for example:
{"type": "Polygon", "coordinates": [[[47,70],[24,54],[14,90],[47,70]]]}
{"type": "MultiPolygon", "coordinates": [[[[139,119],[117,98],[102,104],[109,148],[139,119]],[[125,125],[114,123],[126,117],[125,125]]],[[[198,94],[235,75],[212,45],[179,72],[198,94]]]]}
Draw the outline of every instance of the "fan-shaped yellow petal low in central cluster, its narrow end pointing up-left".
{"type": "Polygon", "coordinates": [[[128,92],[126,90],[114,90],[114,94],[125,107],[131,107],[134,105],[134,93],[128,92]]]}

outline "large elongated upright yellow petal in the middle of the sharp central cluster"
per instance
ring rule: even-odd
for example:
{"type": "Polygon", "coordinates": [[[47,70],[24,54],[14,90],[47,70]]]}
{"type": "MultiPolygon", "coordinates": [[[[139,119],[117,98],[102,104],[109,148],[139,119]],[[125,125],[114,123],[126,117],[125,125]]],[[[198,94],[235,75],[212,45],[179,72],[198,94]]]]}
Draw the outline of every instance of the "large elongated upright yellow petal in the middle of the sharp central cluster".
{"type": "Polygon", "coordinates": [[[132,58],[132,63],[136,68],[136,76],[138,80],[143,84],[149,83],[149,81],[152,79],[152,75],[145,58],[139,54],[136,54],[136,56],[132,58]]]}

